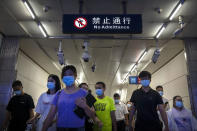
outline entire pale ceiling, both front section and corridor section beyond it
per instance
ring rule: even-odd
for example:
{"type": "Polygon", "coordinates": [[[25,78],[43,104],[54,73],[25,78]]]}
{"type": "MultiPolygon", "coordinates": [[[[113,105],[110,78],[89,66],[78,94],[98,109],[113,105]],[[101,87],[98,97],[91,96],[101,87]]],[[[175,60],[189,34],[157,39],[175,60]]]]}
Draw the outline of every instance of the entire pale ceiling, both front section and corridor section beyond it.
{"type": "MultiPolygon", "coordinates": [[[[87,35],[62,34],[62,15],[78,14],[78,0],[29,0],[39,21],[42,22],[49,36],[64,36],[83,38],[87,35]],[[49,11],[45,13],[43,6],[48,5],[49,11]]],[[[104,81],[110,90],[121,87],[122,81],[130,72],[133,64],[142,55],[145,49],[148,53],[137,70],[145,69],[151,73],[157,71],[166,62],[172,59],[183,50],[181,40],[170,40],[172,33],[178,26],[178,15],[184,16],[187,24],[179,38],[197,37],[197,5],[196,0],[185,1],[183,8],[177,13],[175,19],[168,25],[161,35],[162,40],[159,46],[163,47],[161,56],[157,64],[150,62],[155,50],[154,40],[121,40],[126,37],[153,38],[158,28],[165,22],[176,5],[178,0],[128,0],[128,14],[142,14],[143,33],[142,34],[108,34],[91,35],[89,39],[89,52],[92,56],[89,63],[84,63],[81,59],[83,50],[81,48],[83,39],[63,39],[63,50],[67,64],[73,64],[77,67],[79,82],[87,82],[91,88],[97,81],[104,81]],[[158,14],[154,8],[162,8],[163,12],[158,14]],[[93,39],[92,37],[97,37],[93,39]],[[114,37],[118,39],[102,39],[103,37],[114,37]],[[96,71],[91,71],[93,62],[96,63],[96,71]],[[146,66],[145,66],[146,65],[146,66]]],[[[42,34],[27,12],[21,0],[1,0],[0,2],[0,32],[6,36],[19,36],[20,48],[37,64],[49,73],[60,74],[54,63],[58,64],[57,49],[60,39],[41,39],[42,34]],[[24,38],[31,36],[30,38],[24,38]],[[33,39],[39,37],[39,39],[33,39]]],[[[121,0],[84,0],[84,14],[122,14],[123,9],[121,0]]]]}

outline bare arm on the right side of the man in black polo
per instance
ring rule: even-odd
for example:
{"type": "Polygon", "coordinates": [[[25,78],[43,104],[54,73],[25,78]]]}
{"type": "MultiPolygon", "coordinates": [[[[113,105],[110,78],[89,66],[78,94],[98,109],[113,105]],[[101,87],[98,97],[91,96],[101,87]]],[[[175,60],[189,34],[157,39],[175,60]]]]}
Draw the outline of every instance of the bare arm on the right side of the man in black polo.
{"type": "Polygon", "coordinates": [[[168,118],[167,118],[167,115],[166,115],[163,104],[158,105],[158,110],[159,110],[159,112],[161,114],[161,118],[162,118],[162,120],[165,124],[165,131],[169,131],[169,129],[168,129],[168,118]]]}

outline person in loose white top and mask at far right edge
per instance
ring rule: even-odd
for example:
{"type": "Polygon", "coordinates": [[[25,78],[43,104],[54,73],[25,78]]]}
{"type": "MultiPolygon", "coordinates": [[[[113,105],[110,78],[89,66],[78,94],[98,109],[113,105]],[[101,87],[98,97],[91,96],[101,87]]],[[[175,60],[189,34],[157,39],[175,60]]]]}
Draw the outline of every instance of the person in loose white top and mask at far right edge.
{"type": "Polygon", "coordinates": [[[173,97],[173,108],[168,112],[170,131],[196,131],[197,121],[192,112],[183,105],[181,96],[173,97]]]}

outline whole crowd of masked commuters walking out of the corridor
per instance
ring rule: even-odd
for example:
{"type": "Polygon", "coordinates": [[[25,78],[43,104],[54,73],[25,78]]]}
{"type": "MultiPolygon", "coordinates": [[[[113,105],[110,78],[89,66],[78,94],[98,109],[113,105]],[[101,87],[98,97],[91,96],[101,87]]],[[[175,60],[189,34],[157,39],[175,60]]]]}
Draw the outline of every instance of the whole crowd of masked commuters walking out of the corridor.
{"type": "Polygon", "coordinates": [[[72,65],[58,76],[48,77],[46,92],[36,107],[22,82],[12,84],[14,96],[6,108],[3,131],[197,131],[197,120],[184,107],[181,96],[174,96],[173,107],[164,97],[162,86],[150,87],[151,74],[139,74],[141,88],[124,104],[118,93],[106,96],[104,82],[95,84],[95,94],[88,84],[75,84],[77,70],[72,65]],[[35,108],[35,113],[34,113],[35,108]],[[30,126],[29,126],[30,125],[30,126]],[[30,127],[30,128],[29,128],[30,127]]]}

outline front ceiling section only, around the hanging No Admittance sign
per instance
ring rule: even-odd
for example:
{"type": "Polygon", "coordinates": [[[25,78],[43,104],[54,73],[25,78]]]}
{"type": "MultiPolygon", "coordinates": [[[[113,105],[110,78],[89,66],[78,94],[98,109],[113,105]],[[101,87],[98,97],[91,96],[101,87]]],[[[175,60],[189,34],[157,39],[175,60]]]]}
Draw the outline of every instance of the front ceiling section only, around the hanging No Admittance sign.
{"type": "MultiPolygon", "coordinates": [[[[83,13],[122,14],[121,1],[122,0],[84,0],[83,13]]],[[[34,9],[39,21],[44,25],[49,36],[67,36],[68,34],[62,34],[62,15],[79,13],[79,0],[29,0],[29,3],[34,9]],[[44,5],[49,6],[48,12],[43,11],[44,5]]],[[[132,36],[143,38],[154,37],[158,28],[168,19],[170,12],[177,3],[178,0],[128,0],[127,13],[142,14],[143,17],[143,33],[134,34],[132,36]],[[154,9],[158,7],[163,10],[160,14],[154,11],[154,9]]],[[[197,10],[195,5],[197,5],[196,0],[186,0],[183,7],[161,35],[161,38],[167,39],[172,37],[172,33],[178,27],[178,15],[182,15],[186,23],[183,33],[178,37],[197,37],[197,10]]],[[[42,37],[38,26],[32,20],[21,0],[1,0],[0,11],[0,31],[5,35],[25,36],[24,29],[33,37],[42,37]],[[18,25],[19,23],[23,26],[23,29],[18,25]]]]}

